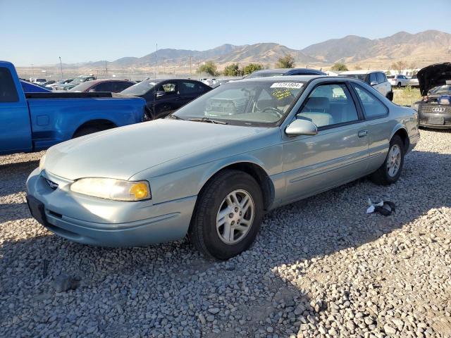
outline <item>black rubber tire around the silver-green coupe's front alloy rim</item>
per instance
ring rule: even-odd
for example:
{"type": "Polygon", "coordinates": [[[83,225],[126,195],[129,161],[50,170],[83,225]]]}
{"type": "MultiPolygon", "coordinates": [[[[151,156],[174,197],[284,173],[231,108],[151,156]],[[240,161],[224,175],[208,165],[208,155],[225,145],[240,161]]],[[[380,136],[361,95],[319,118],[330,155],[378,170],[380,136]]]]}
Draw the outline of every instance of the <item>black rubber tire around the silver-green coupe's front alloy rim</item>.
{"type": "Polygon", "coordinates": [[[263,196],[254,177],[239,170],[225,170],[208,182],[199,194],[188,238],[206,258],[226,260],[249,248],[259,232],[262,218],[263,196]],[[216,217],[226,196],[237,189],[244,190],[252,197],[254,218],[240,242],[226,244],[216,230],[216,217]]]}

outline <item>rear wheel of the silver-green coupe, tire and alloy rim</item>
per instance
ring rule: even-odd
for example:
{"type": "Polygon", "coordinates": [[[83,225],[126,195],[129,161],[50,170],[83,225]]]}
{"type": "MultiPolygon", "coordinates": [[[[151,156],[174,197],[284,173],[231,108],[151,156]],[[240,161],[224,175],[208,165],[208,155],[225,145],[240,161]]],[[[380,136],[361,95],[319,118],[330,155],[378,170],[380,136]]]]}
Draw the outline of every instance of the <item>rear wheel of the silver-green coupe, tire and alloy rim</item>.
{"type": "Polygon", "coordinates": [[[371,174],[371,180],[380,185],[395,183],[401,175],[404,165],[404,144],[401,137],[395,135],[390,141],[387,157],[378,170],[371,174]]]}

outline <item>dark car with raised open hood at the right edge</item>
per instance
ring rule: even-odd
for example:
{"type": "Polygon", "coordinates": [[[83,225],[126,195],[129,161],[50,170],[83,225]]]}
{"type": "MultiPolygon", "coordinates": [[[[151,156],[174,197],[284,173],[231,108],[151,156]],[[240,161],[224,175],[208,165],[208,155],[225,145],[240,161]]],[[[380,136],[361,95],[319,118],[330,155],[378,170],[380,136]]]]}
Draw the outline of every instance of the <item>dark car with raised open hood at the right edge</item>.
{"type": "Polygon", "coordinates": [[[451,63],[435,63],[419,70],[422,101],[416,102],[421,127],[451,128],[451,63]]]}

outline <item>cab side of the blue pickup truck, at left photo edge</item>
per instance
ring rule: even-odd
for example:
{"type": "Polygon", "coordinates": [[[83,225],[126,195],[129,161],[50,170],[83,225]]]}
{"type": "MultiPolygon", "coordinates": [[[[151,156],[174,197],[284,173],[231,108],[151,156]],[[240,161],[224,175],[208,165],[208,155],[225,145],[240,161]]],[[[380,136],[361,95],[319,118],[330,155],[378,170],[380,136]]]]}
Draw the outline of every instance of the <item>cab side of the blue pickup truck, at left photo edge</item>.
{"type": "Polygon", "coordinates": [[[0,154],[32,150],[27,101],[16,88],[21,88],[18,78],[0,67],[0,154]]]}

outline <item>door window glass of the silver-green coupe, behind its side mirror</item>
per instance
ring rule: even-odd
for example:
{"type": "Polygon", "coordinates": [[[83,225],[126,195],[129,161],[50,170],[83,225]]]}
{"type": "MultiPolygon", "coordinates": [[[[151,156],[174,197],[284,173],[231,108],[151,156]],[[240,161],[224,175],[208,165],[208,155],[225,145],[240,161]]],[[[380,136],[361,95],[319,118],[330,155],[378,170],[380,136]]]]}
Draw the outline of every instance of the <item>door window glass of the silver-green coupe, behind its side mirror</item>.
{"type": "Polygon", "coordinates": [[[345,84],[322,84],[311,92],[297,118],[326,127],[359,120],[359,115],[345,84]]]}

